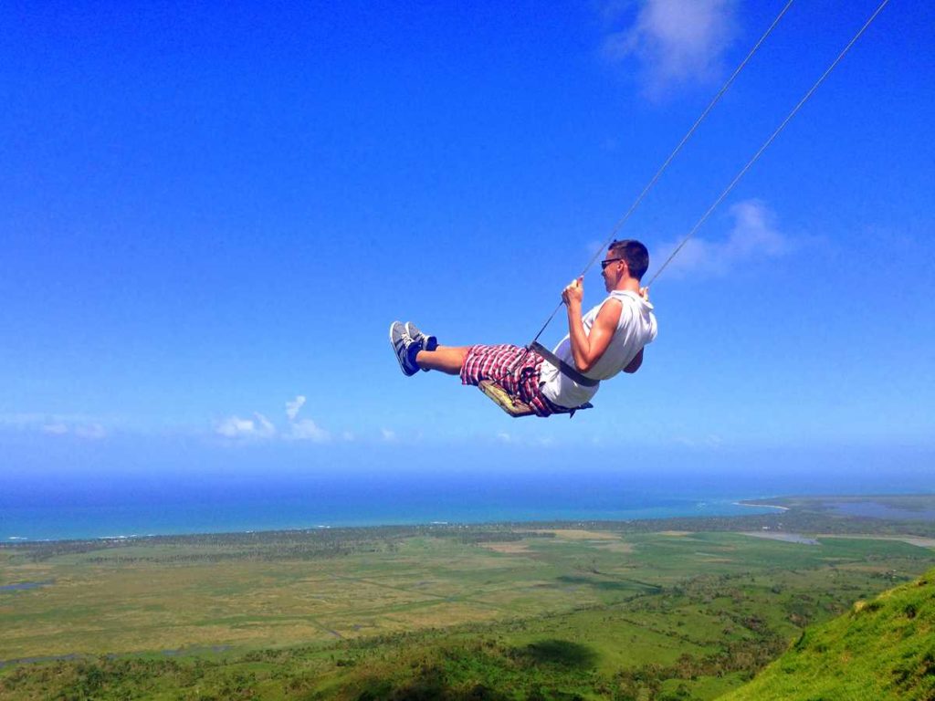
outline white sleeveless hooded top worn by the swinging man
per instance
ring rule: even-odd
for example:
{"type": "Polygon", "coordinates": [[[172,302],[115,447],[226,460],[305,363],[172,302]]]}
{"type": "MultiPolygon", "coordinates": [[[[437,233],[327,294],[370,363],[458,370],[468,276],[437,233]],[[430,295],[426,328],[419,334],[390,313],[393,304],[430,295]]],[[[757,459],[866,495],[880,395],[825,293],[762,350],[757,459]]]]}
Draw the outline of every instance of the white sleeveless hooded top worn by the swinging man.
{"type": "MultiPolygon", "coordinates": [[[[654,341],[657,332],[653,305],[640,297],[638,293],[614,290],[607,299],[582,317],[585,335],[590,336],[597,313],[610,299],[620,300],[623,306],[620,310],[620,321],[617,322],[617,329],[613,332],[607,350],[590,370],[583,373],[585,377],[591,379],[611,379],[630,364],[643,346],[654,341]]],[[[575,366],[569,336],[562,338],[553,352],[568,365],[575,366]]],[[[549,361],[542,363],[539,381],[542,393],[559,407],[580,407],[597,392],[597,386],[584,387],[578,384],[563,375],[549,361]]]]}

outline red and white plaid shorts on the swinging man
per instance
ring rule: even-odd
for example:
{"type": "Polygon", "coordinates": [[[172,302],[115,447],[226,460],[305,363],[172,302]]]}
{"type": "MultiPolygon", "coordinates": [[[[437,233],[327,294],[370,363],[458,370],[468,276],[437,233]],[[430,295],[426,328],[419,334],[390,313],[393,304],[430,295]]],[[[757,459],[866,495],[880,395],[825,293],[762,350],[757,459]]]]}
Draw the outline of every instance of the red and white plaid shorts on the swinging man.
{"type": "Polygon", "coordinates": [[[528,404],[536,416],[549,416],[561,408],[556,407],[539,390],[542,360],[542,356],[535,350],[526,352],[509,343],[471,346],[464,365],[461,365],[461,383],[477,385],[482,379],[493,379],[511,397],[518,397],[528,404]]]}

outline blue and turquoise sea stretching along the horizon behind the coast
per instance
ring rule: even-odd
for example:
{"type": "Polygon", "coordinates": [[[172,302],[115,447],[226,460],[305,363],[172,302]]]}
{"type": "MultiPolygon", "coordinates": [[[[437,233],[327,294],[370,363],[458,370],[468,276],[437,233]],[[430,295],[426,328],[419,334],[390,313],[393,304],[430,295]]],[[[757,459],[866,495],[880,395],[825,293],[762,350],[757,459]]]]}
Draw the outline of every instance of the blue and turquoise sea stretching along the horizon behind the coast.
{"type": "MultiPolygon", "coordinates": [[[[769,513],[755,492],[665,494],[579,475],[482,478],[125,479],[19,484],[0,496],[0,542],[429,522],[661,519],[769,513]]],[[[639,488],[638,488],[639,487],[639,488]]]]}

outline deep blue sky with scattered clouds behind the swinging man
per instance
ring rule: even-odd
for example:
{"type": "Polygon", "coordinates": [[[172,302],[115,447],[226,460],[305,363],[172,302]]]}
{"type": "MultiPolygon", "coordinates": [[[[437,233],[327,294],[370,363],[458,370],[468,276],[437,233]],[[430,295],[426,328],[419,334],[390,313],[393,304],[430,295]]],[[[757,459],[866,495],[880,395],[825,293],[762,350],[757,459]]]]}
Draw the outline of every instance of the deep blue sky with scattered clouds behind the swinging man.
{"type": "MultiPolygon", "coordinates": [[[[594,410],[512,421],[386,342],[528,341],[783,4],[4,4],[0,470],[794,450],[935,488],[928,2],[885,8],[657,281],[658,340],[594,410]]],[[[794,4],[621,236],[658,263],[874,7],[794,4]]]]}

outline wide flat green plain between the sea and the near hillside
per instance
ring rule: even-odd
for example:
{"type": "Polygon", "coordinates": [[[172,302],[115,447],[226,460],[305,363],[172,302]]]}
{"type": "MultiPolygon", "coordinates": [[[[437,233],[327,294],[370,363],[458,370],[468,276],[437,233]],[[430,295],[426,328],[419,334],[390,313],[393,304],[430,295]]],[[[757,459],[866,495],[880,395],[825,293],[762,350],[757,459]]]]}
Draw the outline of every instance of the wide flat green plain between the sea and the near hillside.
{"type": "Polygon", "coordinates": [[[4,547],[0,698],[714,698],[935,565],[927,525],[797,518],[4,547]]]}

